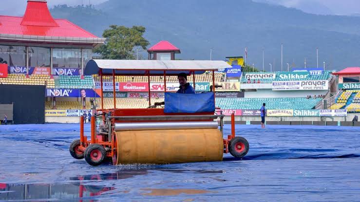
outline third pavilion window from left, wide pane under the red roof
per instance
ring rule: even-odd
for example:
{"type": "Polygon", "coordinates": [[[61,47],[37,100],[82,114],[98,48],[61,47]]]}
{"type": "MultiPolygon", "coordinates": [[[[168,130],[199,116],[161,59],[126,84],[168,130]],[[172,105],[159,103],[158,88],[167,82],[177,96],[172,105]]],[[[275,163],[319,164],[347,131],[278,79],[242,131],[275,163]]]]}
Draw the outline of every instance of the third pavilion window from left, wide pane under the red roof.
{"type": "Polygon", "coordinates": [[[81,68],[81,49],[54,48],[53,67],[81,68]]]}

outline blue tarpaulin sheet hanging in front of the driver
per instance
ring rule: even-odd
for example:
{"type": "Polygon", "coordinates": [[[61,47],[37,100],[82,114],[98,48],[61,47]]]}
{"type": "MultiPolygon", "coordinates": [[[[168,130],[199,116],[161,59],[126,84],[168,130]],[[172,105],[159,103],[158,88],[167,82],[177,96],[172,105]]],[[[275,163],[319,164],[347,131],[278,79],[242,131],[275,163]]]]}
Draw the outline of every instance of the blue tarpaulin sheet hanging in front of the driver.
{"type": "Polygon", "coordinates": [[[165,92],[165,113],[214,112],[214,93],[182,94],[165,92]]]}

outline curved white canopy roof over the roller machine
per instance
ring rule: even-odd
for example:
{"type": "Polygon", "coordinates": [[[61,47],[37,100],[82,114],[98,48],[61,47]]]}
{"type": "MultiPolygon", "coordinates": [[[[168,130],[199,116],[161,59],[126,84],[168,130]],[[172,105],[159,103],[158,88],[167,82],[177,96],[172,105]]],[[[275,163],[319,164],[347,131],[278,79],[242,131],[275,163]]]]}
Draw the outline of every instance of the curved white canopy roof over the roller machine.
{"type": "Polygon", "coordinates": [[[102,69],[103,74],[117,75],[145,75],[150,71],[152,75],[191,73],[202,74],[205,71],[218,70],[219,68],[231,68],[229,64],[221,60],[90,60],[85,67],[86,75],[98,74],[102,69]]]}

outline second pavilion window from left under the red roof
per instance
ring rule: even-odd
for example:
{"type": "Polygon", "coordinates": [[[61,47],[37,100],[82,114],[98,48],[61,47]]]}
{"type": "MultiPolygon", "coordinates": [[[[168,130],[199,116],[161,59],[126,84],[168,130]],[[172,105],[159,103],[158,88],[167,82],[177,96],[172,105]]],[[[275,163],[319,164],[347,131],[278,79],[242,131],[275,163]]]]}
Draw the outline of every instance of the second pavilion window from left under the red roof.
{"type": "Polygon", "coordinates": [[[50,67],[50,48],[29,47],[30,67],[50,67]]]}

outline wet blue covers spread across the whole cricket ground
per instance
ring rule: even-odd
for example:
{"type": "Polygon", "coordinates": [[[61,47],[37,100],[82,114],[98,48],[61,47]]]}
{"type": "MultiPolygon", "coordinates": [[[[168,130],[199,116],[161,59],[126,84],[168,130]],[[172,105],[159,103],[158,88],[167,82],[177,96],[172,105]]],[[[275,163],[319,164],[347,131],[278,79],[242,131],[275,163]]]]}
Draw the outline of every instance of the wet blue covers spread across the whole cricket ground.
{"type": "Polygon", "coordinates": [[[360,128],[266,127],[236,126],[243,160],[93,167],[77,124],[0,125],[0,201],[360,201],[360,128]]]}

